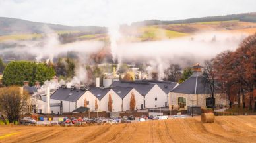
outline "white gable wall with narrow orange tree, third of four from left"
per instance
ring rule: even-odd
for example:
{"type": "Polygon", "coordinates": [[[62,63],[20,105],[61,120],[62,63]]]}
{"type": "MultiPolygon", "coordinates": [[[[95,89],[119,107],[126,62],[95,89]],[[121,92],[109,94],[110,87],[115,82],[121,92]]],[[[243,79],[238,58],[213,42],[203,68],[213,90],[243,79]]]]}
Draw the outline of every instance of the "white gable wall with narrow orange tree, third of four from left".
{"type": "MultiPolygon", "coordinates": [[[[123,111],[127,111],[130,110],[130,100],[131,100],[131,93],[134,93],[135,96],[135,102],[136,102],[136,106],[135,106],[135,110],[141,109],[141,104],[144,104],[144,98],[141,94],[139,94],[138,91],[136,91],[135,89],[132,89],[124,98],[123,98],[123,111]]],[[[144,107],[144,106],[143,106],[144,107]]]]}

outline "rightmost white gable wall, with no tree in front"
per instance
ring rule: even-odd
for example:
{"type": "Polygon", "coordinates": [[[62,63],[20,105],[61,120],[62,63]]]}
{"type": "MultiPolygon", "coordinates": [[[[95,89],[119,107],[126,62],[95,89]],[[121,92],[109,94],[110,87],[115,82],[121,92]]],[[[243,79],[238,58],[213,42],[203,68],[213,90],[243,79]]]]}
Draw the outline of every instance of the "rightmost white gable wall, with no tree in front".
{"type": "Polygon", "coordinates": [[[165,107],[168,103],[168,95],[166,95],[158,85],[154,85],[148,94],[146,94],[145,102],[145,108],[165,107]],[[157,100],[155,100],[155,98],[157,98],[157,100]]]}

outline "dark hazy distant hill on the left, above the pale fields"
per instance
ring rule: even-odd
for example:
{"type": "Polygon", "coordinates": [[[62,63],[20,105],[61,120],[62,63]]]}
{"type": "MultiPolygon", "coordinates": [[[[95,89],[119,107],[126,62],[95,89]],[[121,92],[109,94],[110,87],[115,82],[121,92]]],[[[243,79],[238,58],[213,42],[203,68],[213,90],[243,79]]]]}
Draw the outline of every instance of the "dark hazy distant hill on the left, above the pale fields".
{"type": "Polygon", "coordinates": [[[54,31],[79,31],[88,34],[106,33],[107,31],[106,28],[98,26],[64,26],[60,24],[46,24],[16,18],[0,17],[0,35],[44,33],[44,26],[48,26],[54,31]]]}

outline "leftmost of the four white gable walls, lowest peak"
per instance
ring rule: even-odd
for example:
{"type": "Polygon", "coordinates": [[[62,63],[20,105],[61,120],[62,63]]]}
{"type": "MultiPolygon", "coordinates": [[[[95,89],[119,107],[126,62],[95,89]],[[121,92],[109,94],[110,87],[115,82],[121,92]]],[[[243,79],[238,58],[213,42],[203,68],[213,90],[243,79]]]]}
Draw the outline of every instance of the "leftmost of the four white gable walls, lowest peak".
{"type": "Polygon", "coordinates": [[[100,100],[98,100],[98,98],[96,98],[96,96],[94,96],[94,94],[92,94],[92,92],[90,91],[86,91],[84,95],[82,95],[79,100],[77,100],[77,108],[79,108],[80,106],[84,107],[85,98],[89,102],[89,105],[87,105],[87,107],[90,108],[90,110],[95,110],[95,99],[98,103],[98,109],[100,109],[100,100]]]}

